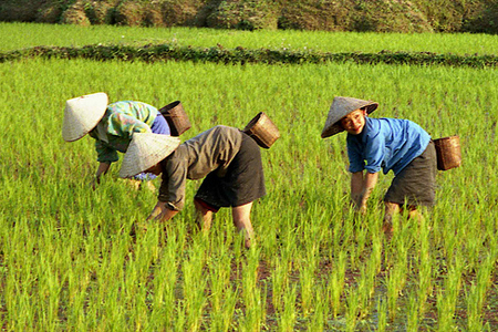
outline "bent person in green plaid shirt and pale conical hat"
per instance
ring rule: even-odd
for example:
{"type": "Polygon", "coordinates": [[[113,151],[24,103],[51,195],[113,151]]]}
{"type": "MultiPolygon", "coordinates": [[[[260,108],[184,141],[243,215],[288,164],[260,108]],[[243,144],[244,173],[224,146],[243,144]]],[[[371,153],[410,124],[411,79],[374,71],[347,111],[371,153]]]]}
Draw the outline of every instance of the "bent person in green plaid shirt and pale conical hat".
{"type": "MultiPolygon", "coordinates": [[[[133,101],[107,103],[107,94],[100,92],[69,100],[64,110],[64,141],[74,142],[86,134],[95,139],[98,167],[92,180],[93,188],[111,164],[118,160],[117,152],[126,152],[133,133],[170,134],[166,120],[154,106],[133,101]]],[[[139,174],[134,184],[138,186],[142,180],[153,178],[155,176],[139,174]]]]}

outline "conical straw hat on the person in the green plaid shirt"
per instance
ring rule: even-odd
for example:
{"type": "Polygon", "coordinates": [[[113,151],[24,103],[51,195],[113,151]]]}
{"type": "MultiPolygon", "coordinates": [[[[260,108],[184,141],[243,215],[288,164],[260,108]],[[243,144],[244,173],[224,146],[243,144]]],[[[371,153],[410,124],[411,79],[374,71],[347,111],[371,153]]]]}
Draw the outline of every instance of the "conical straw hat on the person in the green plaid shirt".
{"type": "Polygon", "coordinates": [[[77,141],[92,131],[105,114],[107,94],[103,92],[83,95],[65,102],[62,138],[77,141]]]}

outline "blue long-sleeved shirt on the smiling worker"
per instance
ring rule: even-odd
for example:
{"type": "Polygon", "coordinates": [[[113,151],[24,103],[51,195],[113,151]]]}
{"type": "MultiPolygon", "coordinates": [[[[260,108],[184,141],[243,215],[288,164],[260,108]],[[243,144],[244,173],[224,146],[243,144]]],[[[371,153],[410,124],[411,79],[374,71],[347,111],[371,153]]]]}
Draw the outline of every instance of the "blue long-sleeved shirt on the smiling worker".
{"type": "Polygon", "coordinates": [[[413,159],[422,155],[430,136],[409,120],[365,117],[360,135],[347,134],[350,172],[366,169],[397,175],[413,159]],[[365,163],[366,162],[366,163],[365,163]]]}

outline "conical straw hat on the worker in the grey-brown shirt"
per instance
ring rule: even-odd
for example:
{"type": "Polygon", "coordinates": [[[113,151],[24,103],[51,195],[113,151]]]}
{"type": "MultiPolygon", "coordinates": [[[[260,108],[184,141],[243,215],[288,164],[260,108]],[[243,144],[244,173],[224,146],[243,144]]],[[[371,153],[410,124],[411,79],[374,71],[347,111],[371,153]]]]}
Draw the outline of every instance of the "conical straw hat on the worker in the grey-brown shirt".
{"type": "Polygon", "coordinates": [[[178,137],[153,133],[134,133],[123,157],[120,177],[135,176],[169,156],[180,144],[178,137]]]}

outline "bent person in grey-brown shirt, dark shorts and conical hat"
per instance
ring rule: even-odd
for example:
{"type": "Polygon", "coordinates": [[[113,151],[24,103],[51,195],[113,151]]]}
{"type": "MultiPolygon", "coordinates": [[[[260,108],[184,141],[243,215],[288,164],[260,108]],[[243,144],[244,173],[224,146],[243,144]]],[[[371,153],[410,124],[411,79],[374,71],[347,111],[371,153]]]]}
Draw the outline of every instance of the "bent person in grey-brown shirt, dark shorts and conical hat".
{"type": "Polygon", "coordinates": [[[247,134],[228,126],[212,127],[179,144],[176,137],[135,134],[123,158],[121,177],[141,172],[163,174],[154,210],[147,220],[167,221],[185,205],[187,179],[200,179],[194,204],[204,230],[211,226],[212,214],[231,207],[234,224],[251,246],[252,203],[266,195],[259,146],[247,134]]]}

